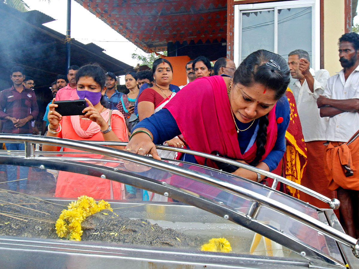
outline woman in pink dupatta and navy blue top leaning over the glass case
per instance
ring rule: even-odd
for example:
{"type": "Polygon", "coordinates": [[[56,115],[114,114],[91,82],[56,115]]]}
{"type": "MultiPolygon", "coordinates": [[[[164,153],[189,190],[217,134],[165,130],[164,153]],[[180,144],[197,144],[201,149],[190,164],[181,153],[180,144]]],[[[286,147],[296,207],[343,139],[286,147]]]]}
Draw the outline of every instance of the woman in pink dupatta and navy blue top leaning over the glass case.
{"type": "MultiPolygon", "coordinates": [[[[154,144],[182,133],[192,150],[271,171],[285,152],[289,104],[284,94],[289,81],[289,68],[281,56],[265,50],[253,52],[233,80],[203,77],[185,86],[164,109],[137,124],[126,150],[160,159],[154,144]]],[[[188,156],[186,161],[218,167],[197,156],[188,156]]],[[[253,181],[264,179],[246,169],[229,168],[253,181]]]]}

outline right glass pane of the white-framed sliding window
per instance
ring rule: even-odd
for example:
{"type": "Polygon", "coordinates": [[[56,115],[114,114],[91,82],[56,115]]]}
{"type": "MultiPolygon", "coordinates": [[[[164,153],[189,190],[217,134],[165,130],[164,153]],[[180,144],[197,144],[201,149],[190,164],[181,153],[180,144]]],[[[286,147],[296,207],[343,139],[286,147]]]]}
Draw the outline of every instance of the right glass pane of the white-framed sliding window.
{"type": "Polygon", "coordinates": [[[304,49],[312,62],[312,7],[278,10],[278,54],[288,60],[288,53],[304,49]]]}

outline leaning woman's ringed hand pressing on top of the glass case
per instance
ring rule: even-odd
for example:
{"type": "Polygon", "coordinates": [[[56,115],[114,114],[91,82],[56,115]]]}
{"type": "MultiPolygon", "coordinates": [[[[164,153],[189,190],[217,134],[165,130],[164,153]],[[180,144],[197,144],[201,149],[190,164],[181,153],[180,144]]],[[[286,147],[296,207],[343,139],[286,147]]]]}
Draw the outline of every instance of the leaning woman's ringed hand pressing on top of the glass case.
{"type": "MultiPolygon", "coordinates": [[[[149,132],[147,129],[145,131],[149,132]]],[[[161,160],[161,158],[158,156],[155,144],[151,141],[149,135],[143,132],[136,133],[134,136],[132,136],[125,150],[143,156],[145,154],[150,154],[152,155],[153,159],[161,160]]]]}

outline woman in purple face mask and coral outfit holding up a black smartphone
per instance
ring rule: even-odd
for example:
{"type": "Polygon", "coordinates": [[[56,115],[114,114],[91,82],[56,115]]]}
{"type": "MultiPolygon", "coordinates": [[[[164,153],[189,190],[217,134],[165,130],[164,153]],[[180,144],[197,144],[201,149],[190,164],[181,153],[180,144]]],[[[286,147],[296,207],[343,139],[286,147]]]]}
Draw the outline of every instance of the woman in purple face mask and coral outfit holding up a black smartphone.
{"type": "MultiPolygon", "coordinates": [[[[100,66],[85,65],[76,73],[77,94],[79,99],[85,99],[87,107],[84,115],[62,116],[56,112],[57,104],[49,105],[47,136],[67,138],[71,140],[90,141],[128,141],[125,118],[118,110],[109,110],[101,104],[106,88],[105,72],[100,66]]],[[[103,102],[105,104],[105,102],[103,102]]],[[[113,146],[122,149],[123,147],[113,146]]],[[[59,151],[60,148],[43,145],[44,151],[59,151]]],[[[64,154],[76,150],[64,148],[64,154]]],[[[76,157],[79,155],[76,154],[76,157]]],[[[84,157],[99,159],[99,154],[84,154],[84,157]]],[[[56,197],[74,198],[89,195],[95,199],[123,199],[124,186],[118,182],[101,179],[94,176],[60,171],[56,183],[56,197]]]]}

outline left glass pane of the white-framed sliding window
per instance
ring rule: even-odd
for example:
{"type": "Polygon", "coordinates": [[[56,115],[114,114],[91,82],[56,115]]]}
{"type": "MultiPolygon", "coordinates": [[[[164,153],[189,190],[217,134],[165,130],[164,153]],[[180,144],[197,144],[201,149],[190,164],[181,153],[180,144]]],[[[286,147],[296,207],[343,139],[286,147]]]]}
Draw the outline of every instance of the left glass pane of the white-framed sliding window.
{"type": "Polygon", "coordinates": [[[274,10],[242,13],[241,62],[258,49],[274,51],[274,10]]]}

